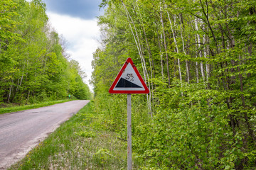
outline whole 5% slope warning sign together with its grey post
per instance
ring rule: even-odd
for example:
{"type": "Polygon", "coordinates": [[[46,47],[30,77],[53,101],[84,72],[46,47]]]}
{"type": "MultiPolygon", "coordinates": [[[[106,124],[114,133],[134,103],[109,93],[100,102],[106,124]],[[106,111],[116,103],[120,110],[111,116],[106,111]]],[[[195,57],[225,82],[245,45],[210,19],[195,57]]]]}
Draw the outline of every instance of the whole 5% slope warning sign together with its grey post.
{"type": "Polygon", "coordinates": [[[149,94],[142,76],[127,58],[109,90],[110,94],[127,94],[127,169],[132,170],[132,94],[149,94]]]}

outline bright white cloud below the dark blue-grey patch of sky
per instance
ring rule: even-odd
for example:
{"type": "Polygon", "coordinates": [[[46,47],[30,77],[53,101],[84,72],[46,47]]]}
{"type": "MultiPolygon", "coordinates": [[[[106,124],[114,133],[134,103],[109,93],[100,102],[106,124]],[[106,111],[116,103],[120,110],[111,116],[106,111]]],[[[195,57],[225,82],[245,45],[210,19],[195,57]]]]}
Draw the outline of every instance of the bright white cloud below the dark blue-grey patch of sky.
{"type": "MultiPolygon", "coordinates": [[[[97,27],[97,20],[82,20],[52,12],[48,12],[48,17],[56,32],[68,40],[68,53],[70,53],[73,60],[80,63],[87,74],[85,81],[90,86],[92,53],[97,49],[97,39],[100,38],[100,28],[97,27]]],[[[92,89],[92,86],[90,86],[90,89],[92,89]]]]}

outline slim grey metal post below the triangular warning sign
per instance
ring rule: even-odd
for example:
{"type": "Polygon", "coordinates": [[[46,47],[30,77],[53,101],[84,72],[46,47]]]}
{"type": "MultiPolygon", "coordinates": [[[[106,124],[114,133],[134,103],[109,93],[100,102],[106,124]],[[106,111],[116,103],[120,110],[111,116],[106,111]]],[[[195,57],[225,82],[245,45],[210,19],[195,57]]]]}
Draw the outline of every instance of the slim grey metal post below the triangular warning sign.
{"type": "Polygon", "coordinates": [[[127,94],[127,169],[132,170],[132,94],[127,94]]]}

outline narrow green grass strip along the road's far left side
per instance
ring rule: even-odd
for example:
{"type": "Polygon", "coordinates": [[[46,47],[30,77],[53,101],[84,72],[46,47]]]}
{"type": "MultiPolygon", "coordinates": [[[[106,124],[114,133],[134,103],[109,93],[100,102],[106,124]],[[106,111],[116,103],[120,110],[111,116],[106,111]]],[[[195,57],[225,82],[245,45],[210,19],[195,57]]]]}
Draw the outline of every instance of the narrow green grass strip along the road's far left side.
{"type": "Polygon", "coordinates": [[[43,106],[50,106],[53,104],[63,103],[66,101],[70,101],[70,100],[46,101],[46,102],[36,103],[36,104],[31,104],[31,105],[0,108],[0,114],[11,113],[11,112],[16,112],[16,111],[24,111],[24,110],[31,109],[31,108],[41,108],[43,106]]]}

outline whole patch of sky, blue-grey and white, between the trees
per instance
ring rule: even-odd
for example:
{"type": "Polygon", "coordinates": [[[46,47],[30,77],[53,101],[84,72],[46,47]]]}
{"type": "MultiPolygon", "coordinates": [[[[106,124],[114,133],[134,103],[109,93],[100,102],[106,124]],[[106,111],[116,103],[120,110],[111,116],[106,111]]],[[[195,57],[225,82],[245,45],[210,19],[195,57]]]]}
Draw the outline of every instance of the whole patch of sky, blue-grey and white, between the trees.
{"type": "Polygon", "coordinates": [[[68,41],[68,53],[77,60],[87,74],[85,83],[92,90],[92,53],[99,46],[100,28],[97,16],[103,15],[99,8],[101,0],[43,0],[49,22],[59,35],[68,41]]]}

